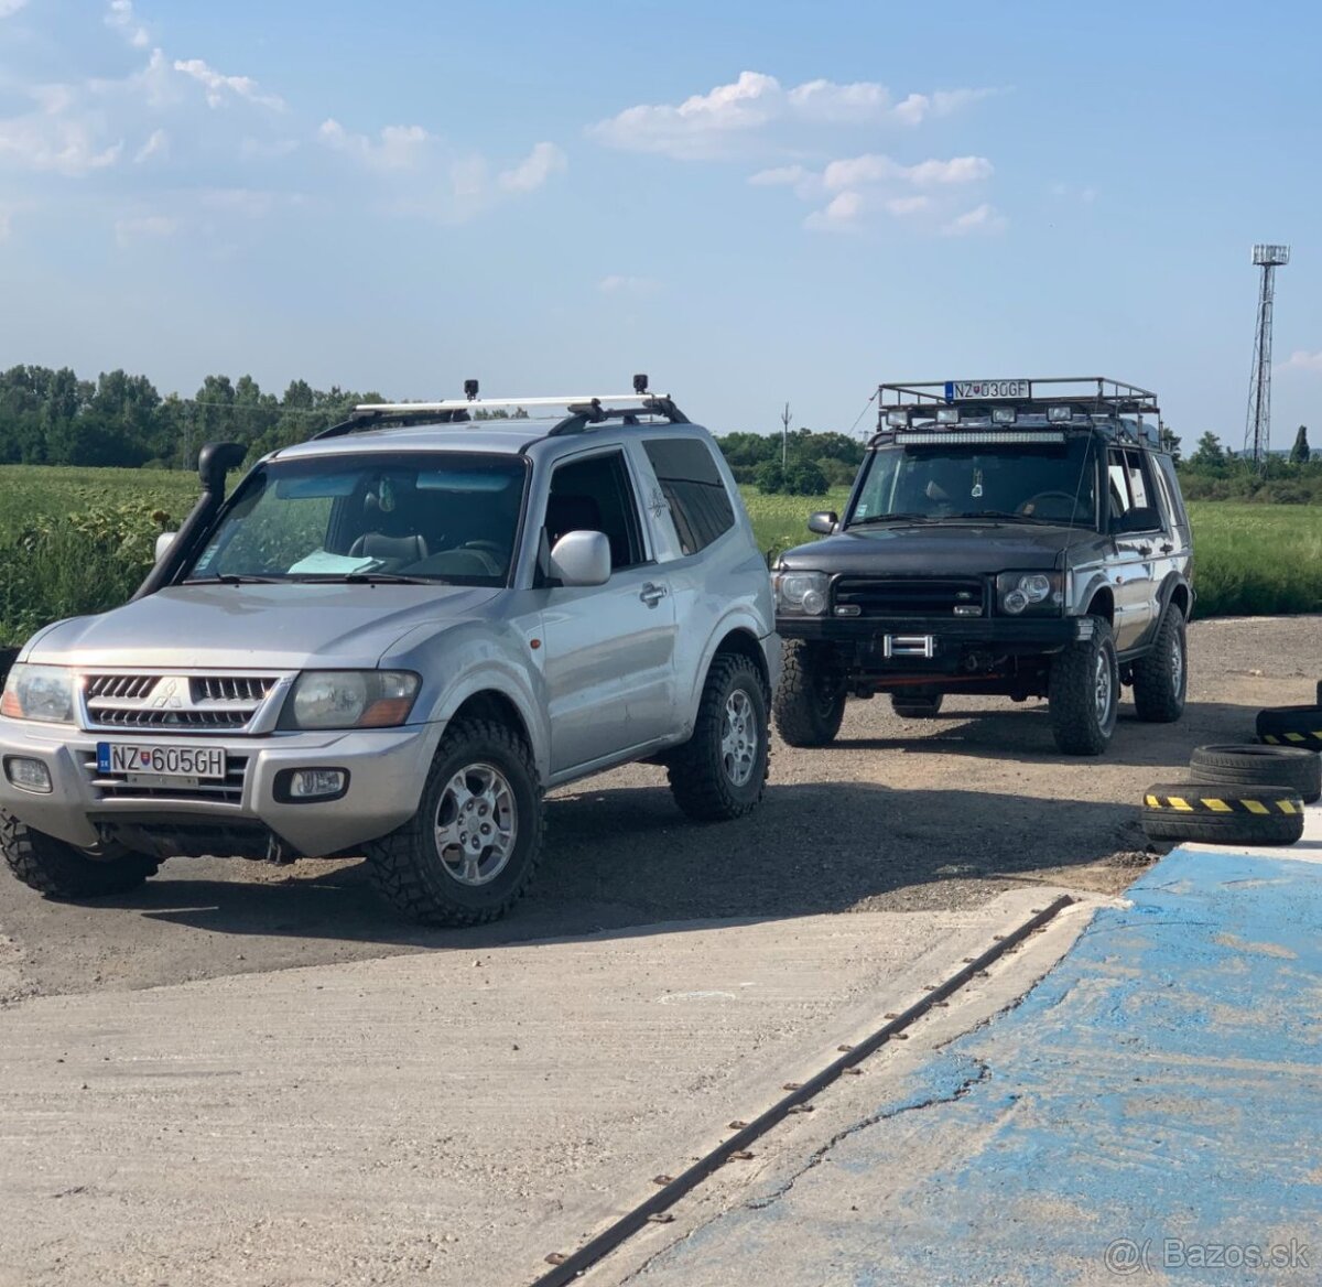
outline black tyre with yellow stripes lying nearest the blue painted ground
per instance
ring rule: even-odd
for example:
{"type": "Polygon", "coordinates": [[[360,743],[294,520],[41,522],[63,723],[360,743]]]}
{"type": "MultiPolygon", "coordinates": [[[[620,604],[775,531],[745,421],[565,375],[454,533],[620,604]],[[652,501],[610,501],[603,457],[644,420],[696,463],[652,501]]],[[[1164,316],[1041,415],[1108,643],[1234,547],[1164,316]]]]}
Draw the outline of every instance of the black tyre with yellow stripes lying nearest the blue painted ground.
{"type": "Polygon", "coordinates": [[[1163,782],[1144,792],[1142,824],[1150,840],[1292,845],[1303,835],[1303,800],[1292,787],[1163,782]]]}

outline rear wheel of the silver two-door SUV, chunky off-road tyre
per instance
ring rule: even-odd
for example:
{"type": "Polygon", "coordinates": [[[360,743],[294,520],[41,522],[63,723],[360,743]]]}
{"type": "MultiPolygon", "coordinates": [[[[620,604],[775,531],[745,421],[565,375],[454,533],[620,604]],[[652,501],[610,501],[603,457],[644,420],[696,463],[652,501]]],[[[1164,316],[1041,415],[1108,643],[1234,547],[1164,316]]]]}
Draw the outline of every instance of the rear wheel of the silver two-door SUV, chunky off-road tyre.
{"type": "Polygon", "coordinates": [[[668,758],[674,803],[701,823],[750,813],[767,786],[767,681],[746,656],[711,663],[693,737],[668,758]]]}

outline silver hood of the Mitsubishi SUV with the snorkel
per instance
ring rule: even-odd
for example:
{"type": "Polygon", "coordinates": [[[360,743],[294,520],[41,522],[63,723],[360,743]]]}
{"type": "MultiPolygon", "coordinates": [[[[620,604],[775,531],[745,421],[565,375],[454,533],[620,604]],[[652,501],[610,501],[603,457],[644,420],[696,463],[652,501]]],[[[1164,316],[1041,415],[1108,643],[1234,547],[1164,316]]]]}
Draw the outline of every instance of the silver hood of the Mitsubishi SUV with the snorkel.
{"type": "Polygon", "coordinates": [[[365,668],[419,626],[453,624],[486,586],[172,586],[38,635],[25,660],[58,665],[297,671],[365,668]]]}

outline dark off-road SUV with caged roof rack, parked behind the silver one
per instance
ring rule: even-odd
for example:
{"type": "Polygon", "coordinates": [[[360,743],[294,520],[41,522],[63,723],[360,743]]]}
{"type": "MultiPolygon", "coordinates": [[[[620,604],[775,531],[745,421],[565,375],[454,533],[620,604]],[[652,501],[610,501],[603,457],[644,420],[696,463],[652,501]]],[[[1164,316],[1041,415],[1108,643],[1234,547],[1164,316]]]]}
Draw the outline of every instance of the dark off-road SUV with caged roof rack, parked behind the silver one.
{"type": "Polygon", "coordinates": [[[843,516],[773,569],[776,724],[824,746],[846,697],[932,717],[947,693],[1046,697],[1056,745],[1099,755],[1121,685],[1185,709],[1188,516],[1154,394],[1113,380],[882,385],[843,516]]]}

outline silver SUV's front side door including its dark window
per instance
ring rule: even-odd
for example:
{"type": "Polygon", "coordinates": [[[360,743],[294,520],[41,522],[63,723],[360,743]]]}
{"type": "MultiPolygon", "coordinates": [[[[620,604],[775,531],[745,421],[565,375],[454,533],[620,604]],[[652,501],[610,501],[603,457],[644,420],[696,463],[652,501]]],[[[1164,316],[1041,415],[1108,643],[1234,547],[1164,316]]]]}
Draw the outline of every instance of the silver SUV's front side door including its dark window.
{"type": "Polygon", "coordinates": [[[676,607],[623,448],[558,464],[542,528],[547,552],[574,530],[604,532],[611,542],[605,585],[542,590],[551,772],[564,775],[673,730],[676,607]]]}

